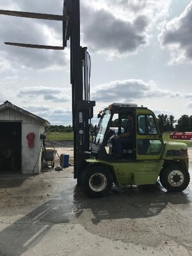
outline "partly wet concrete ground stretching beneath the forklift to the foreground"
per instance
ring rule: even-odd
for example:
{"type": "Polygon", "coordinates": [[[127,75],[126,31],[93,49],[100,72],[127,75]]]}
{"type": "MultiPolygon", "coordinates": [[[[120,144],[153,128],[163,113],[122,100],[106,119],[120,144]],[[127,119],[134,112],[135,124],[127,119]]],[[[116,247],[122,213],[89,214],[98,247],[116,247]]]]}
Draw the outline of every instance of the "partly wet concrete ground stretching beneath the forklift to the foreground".
{"type": "Polygon", "coordinates": [[[92,199],[72,167],[0,175],[0,255],[192,255],[191,202],[191,183],[182,193],[157,184],[92,199]]]}

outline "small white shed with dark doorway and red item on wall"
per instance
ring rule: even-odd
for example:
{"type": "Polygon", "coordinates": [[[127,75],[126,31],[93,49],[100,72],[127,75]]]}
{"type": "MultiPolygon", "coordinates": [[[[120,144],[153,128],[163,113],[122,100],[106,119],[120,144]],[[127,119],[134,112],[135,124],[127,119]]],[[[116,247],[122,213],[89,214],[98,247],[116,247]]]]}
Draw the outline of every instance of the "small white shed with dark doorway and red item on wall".
{"type": "Polygon", "coordinates": [[[22,174],[42,170],[41,134],[49,122],[39,116],[4,102],[0,105],[0,172],[22,174]]]}

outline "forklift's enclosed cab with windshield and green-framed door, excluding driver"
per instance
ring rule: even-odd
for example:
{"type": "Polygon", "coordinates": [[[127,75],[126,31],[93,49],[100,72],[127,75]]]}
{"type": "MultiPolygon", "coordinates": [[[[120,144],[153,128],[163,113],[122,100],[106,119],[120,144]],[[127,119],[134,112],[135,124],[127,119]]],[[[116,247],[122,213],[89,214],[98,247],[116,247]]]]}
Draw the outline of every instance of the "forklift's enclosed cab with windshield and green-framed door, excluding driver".
{"type": "Polygon", "coordinates": [[[136,104],[113,103],[99,113],[99,125],[93,137],[91,152],[96,159],[106,161],[137,161],[159,159],[163,150],[163,139],[154,113],[136,104]],[[132,116],[132,136],[124,143],[123,157],[114,156],[112,141],[126,132],[127,116],[132,116]]]}

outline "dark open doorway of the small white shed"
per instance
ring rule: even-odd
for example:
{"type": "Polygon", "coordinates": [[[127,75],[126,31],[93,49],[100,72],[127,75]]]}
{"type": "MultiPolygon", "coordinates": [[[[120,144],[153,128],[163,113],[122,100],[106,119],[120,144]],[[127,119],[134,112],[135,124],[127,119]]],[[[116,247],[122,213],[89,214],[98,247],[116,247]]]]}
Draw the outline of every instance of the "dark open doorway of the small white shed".
{"type": "Polygon", "coordinates": [[[21,122],[0,122],[0,172],[21,172],[21,122]]]}

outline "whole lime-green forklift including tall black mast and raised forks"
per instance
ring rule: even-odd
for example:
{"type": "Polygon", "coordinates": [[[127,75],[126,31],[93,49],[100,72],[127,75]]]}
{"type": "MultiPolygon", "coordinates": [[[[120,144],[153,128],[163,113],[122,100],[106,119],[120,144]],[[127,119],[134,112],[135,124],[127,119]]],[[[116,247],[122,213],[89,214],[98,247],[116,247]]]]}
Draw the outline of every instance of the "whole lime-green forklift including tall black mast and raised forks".
{"type": "Polygon", "coordinates": [[[70,39],[70,81],[72,84],[72,124],[74,128],[74,179],[91,197],[110,193],[113,184],[156,184],[180,192],[189,185],[189,156],[185,143],[164,142],[156,116],[143,106],[113,103],[98,115],[99,124],[90,142],[90,120],[95,101],[90,100],[90,55],[80,45],[79,0],[64,0],[63,15],[0,10],[0,14],[30,19],[61,20],[63,45],[35,45],[5,42],[7,45],[37,49],[63,50],[70,39]],[[127,115],[132,116],[129,143],[122,144],[116,157],[114,141],[124,137],[127,115]]]}

